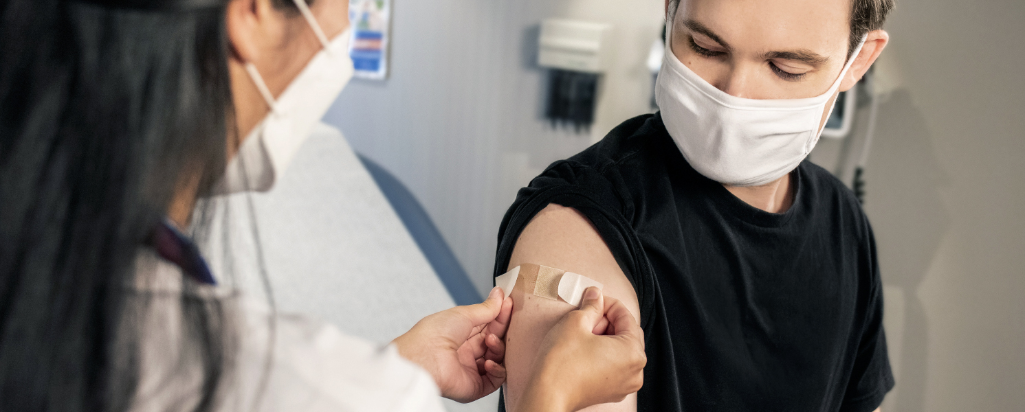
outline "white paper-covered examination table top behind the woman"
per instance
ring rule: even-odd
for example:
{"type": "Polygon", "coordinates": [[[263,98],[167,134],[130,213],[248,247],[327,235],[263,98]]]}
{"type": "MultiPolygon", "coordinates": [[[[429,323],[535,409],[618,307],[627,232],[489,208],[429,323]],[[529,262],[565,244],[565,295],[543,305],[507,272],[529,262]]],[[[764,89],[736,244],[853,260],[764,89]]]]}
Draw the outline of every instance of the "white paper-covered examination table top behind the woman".
{"type": "MultiPolygon", "coordinates": [[[[258,152],[253,137],[243,151],[258,152]]],[[[319,124],[299,141],[288,169],[254,173],[276,176],[259,182],[269,190],[216,199],[219,208],[231,209],[232,244],[204,251],[214,275],[234,277],[243,290],[262,297],[252,215],[282,311],[314,315],[346,334],[386,343],[423,317],[455,306],[341,132],[319,124]],[[221,261],[225,255],[233,257],[232,267],[221,261]]],[[[260,156],[247,164],[256,171],[269,167],[260,156]]],[[[219,241],[220,222],[211,228],[219,241]]]]}

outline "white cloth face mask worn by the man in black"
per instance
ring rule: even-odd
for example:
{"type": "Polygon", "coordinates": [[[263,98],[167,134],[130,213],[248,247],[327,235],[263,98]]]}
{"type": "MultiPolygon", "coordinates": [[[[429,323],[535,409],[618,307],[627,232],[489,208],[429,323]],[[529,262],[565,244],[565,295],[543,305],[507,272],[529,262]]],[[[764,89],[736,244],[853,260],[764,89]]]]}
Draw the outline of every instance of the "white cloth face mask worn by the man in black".
{"type": "Polygon", "coordinates": [[[671,32],[666,39],[655,87],[665,128],[695,170],[730,186],[767,184],[805,160],[822,133],[823,110],[865,43],[861,41],[824,94],[752,99],[704,81],[672,53],[671,32]]]}

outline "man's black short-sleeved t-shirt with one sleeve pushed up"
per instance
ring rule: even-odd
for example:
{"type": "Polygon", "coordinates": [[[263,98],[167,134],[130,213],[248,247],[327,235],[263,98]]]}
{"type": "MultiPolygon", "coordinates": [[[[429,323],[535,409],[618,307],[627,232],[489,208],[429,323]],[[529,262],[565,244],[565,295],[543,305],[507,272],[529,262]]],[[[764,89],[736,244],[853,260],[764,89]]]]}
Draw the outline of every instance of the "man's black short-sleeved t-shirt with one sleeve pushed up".
{"type": "Polygon", "coordinates": [[[641,302],[640,411],[872,411],[893,385],[883,286],[854,195],[805,161],[784,213],[696,172],[659,114],[630,119],[520,191],[495,276],[549,203],[586,215],[641,302]]]}

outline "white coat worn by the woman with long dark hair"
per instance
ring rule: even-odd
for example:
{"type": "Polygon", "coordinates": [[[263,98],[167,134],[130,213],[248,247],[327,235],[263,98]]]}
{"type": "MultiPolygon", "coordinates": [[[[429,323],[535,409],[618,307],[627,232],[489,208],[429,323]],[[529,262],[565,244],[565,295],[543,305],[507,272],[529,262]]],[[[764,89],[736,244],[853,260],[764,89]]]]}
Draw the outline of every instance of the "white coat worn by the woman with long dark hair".
{"type": "MultiPolygon", "coordinates": [[[[144,336],[131,411],[189,410],[199,402],[201,365],[195,356],[181,357],[195,349],[181,339],[182,274],[149,250],[139,253],[136,271],[135,288],[151,300],[145,314],[126,320],[144,336]]],[[[238,338],[218,411],[444,411],[430,375],[393,345],[346,336],[309,317],[272,314],[258,299],[227,287],[203,287],[191,297],[221,304],[234,328],[228,336],[238,338]]]]}

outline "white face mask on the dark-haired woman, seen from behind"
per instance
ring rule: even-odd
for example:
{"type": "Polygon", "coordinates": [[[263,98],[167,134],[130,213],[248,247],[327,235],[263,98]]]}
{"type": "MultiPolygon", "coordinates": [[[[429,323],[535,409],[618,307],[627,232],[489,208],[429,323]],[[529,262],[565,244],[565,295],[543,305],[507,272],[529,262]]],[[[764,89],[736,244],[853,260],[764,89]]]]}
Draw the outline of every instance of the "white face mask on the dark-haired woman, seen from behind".
{"type": "Polygon", "coordinates": [[[323,49],[277,100],[256,67],[246,64],[246,72],[271,107],[271,113],[246,136],[238,155],[229,163],[224,179],[216,190],[219,194],[264,192],[274,187],[314,126],[353,78],[353,59],[348,55],[350,31],[328,41],[305,1],[295,0],[295,4],[313,28],[323,49]]]}

